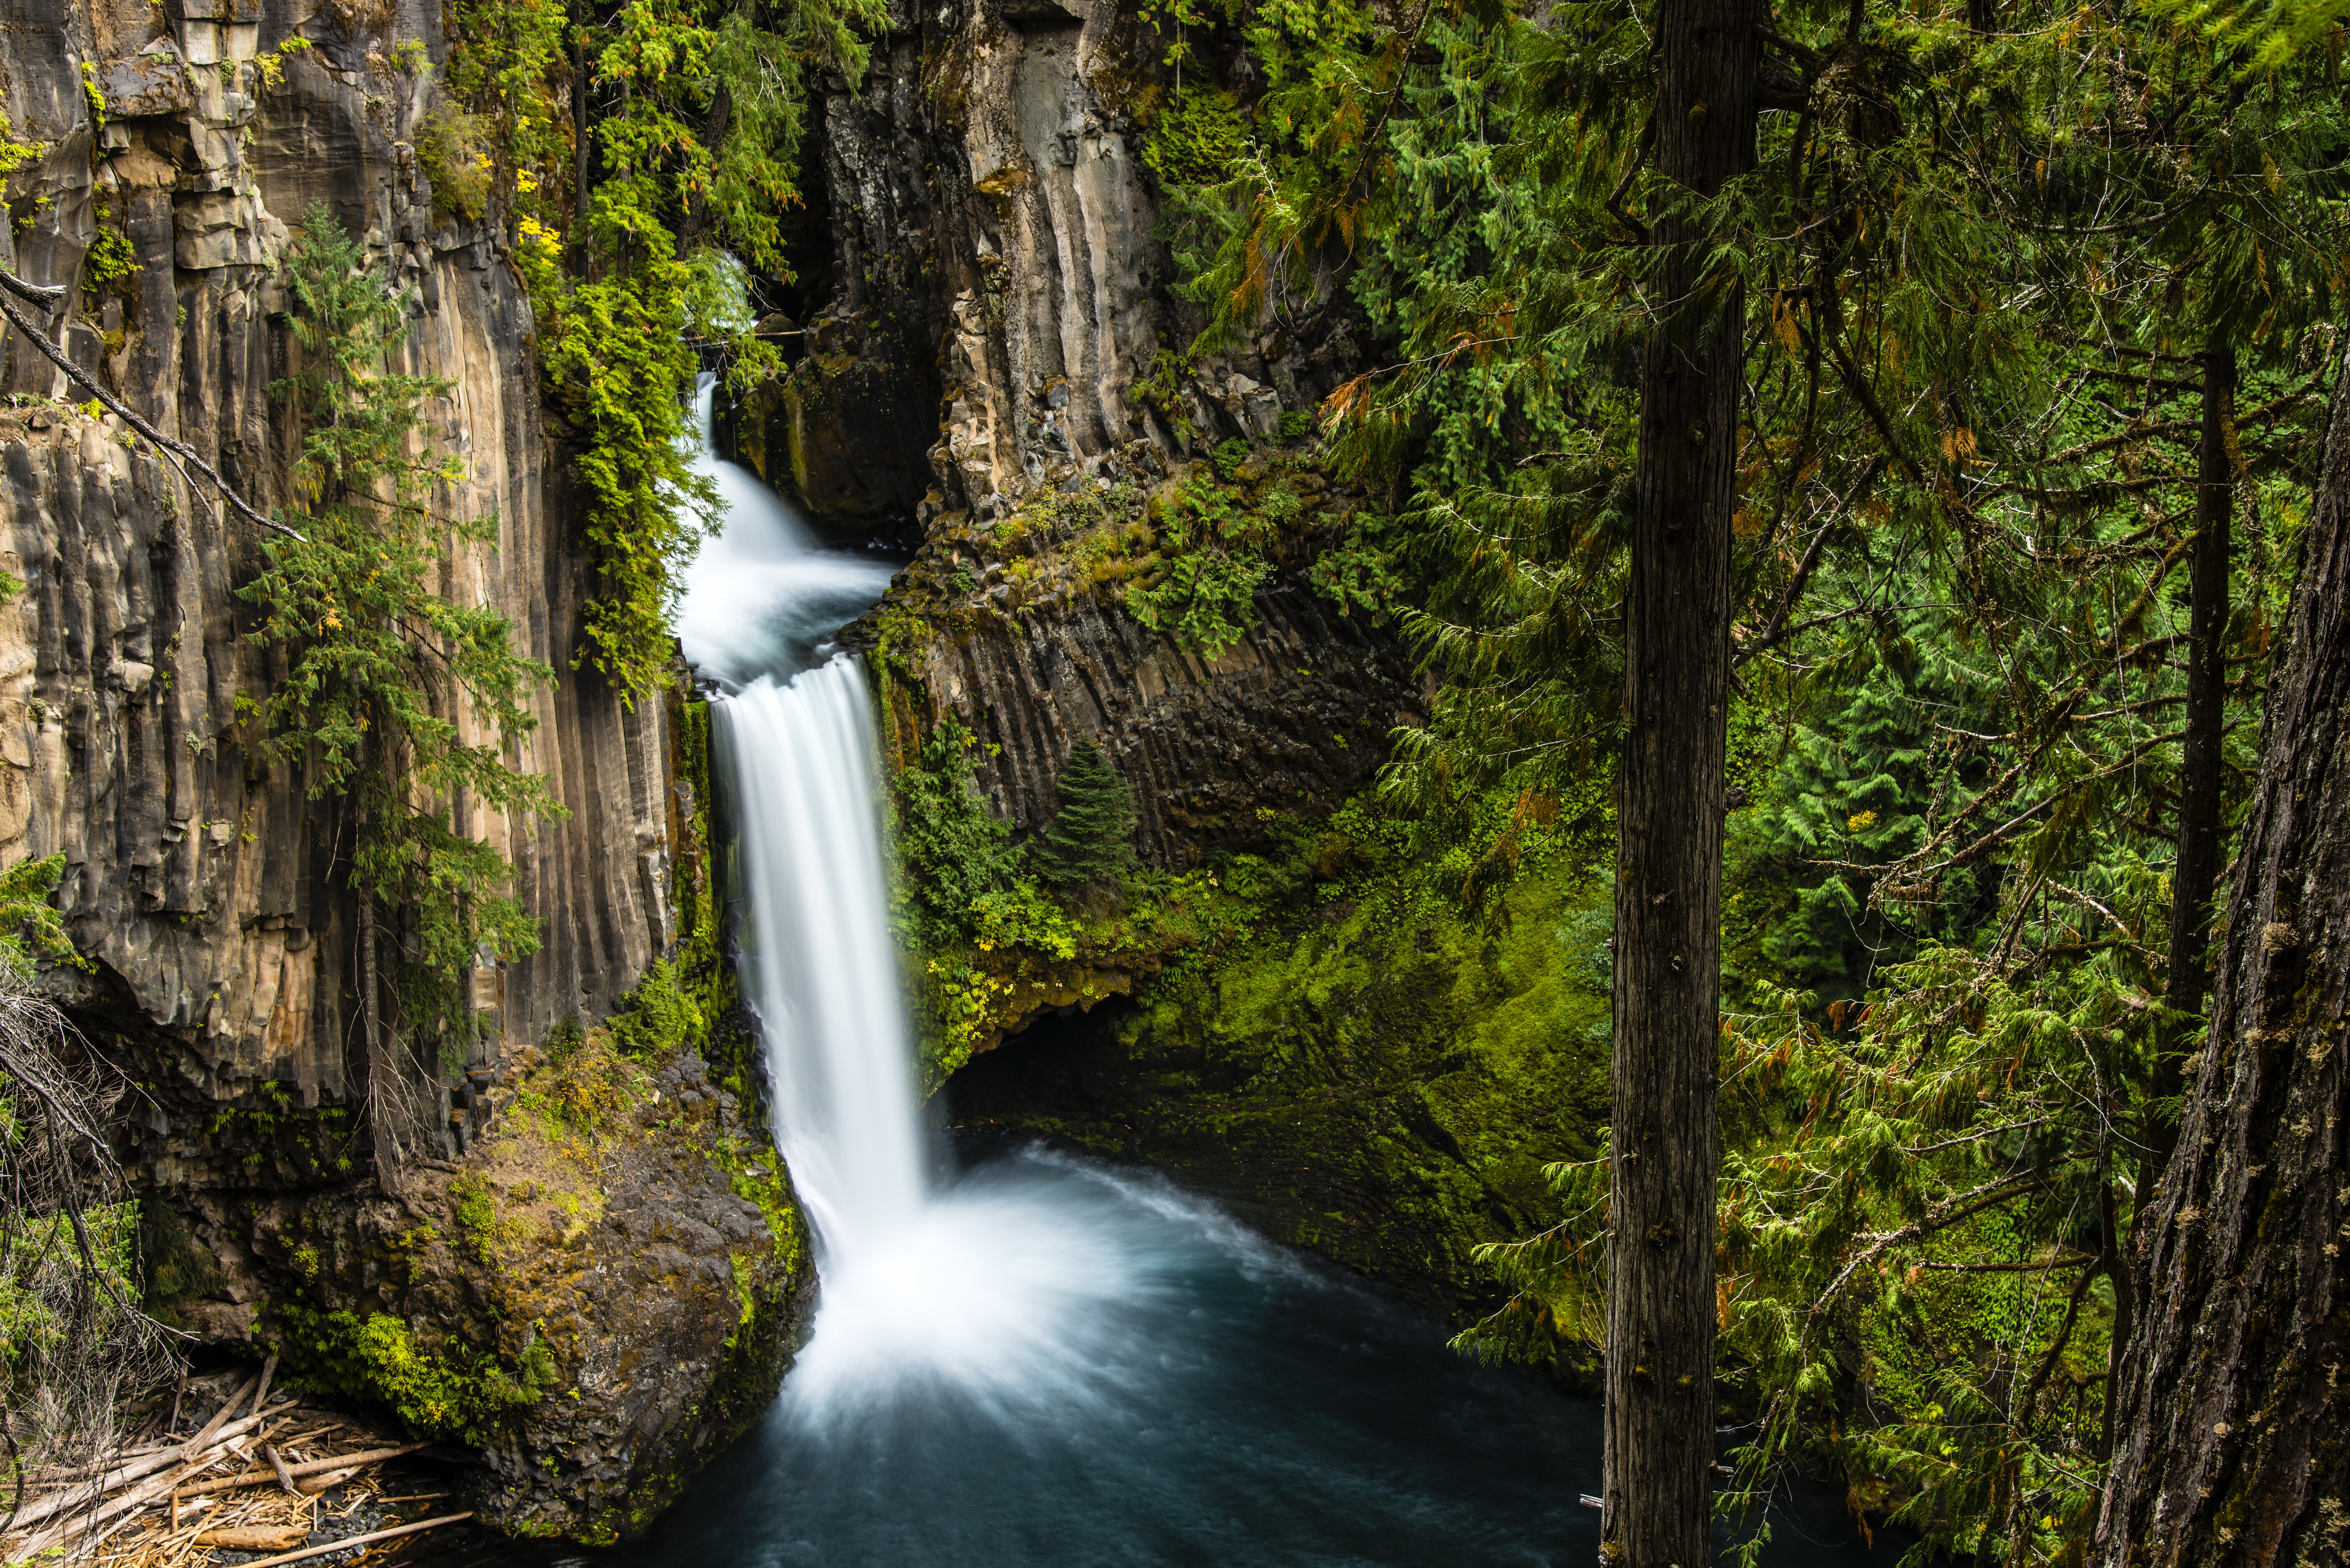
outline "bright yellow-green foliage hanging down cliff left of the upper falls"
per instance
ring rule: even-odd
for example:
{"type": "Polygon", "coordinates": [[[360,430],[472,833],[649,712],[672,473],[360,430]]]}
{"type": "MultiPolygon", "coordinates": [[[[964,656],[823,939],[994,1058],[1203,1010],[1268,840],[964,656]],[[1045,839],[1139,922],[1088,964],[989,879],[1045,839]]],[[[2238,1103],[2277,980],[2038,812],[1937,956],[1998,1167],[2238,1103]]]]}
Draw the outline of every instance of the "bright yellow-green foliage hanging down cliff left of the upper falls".
{"type": "Polygon", "coordinates": [[[449,92],[486,120],[486,209],[531,289],[552,397],[578,435],[597,571],[576,663],[625,701],[663,682],[682,571],[717,494],[686,390],[712,350],[778,369],[745,275],[787,280],[808,80],[865,68],[879,0],[552,0],[458,7],[449,92]],[[550,110],[550,106],[564,106],[550,110]]]}

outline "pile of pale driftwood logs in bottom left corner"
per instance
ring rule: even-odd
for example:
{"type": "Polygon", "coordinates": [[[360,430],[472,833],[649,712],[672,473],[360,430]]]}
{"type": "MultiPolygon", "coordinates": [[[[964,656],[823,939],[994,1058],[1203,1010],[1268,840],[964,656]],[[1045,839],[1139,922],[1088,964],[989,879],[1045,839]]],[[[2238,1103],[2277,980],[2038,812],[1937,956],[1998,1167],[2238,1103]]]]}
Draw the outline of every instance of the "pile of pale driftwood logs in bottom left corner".
{"type": "Polygon", "coordinates": [[[444,1493],[378,1495],[374,1469],[423,1443],[385,1443],[348,1415],[282,1394],[270,1403],[275,1371],[270,1356],[193,1436],[172,1436],[174,1401],[160,1436],[122,1448],[96,1474],[28,1476],[16,1512],[0,1516],[0,1563],[61,1556],[110,1568],[200,1568],[214,1549],[237,1549],[268,1552],[244,1566],[266,1568],[470,1519],[446,1514],[306,1544],[329,1519],[360,1507],[444,1493]],[[320,1495],[334,1488],[343,1495],[329,1516],[320,1495]]]}

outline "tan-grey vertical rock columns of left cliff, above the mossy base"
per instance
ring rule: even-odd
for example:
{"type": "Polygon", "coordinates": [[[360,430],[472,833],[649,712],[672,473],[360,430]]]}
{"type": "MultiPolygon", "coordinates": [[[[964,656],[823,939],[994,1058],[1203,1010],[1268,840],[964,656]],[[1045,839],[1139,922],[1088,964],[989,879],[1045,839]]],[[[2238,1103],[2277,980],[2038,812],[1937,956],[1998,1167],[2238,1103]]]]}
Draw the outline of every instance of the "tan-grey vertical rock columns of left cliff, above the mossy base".
{"type": "MultiPolygon", "coordinates": [[[[188,0],[174,16],[0,0],[5,113],[47,143],[12,181],[33,223],[0,233],[0,263],[70,284],[101,228],[118,230],[136,270],[73,294],[63,346],[263,508],[289,498],[291,433],[268,395],[287,371],[273,268],[289,226],[324,202],[409,292],[402,369],[451,383],[425,411],[468,470],[449,505],[498,520],[494,548],[451,543],[444,592],[496,604],[557,670],[517,762],[571,816],[458,806],[543,919],[538,954],[475,971],[496,1027],[446,1053],[494,1067],[508,1041],[609,1011],[674,936],[665,710],[627,710],[571,670],[588,574],[540,425],[529,301],[494,235],[435,216],[407,143],[423,78],[385,59],[395,35],[437,54],[439,7],[371,31],[294,0],[188,0]],[[296,28],[315,47],[282,52],[296,28]],[[240,63],[273,52],[277,87],[240,63]],[[82,63],[108,85],[103,127],[82,63]]],[[[343,1103],[357,1004],[336,820],[256,752],[244,717],[275,679],[235,592],[256,531],[134,451],[110,414],[63,407],[87,393],[31,346],[9,341],[5,381],[45,402],[0,414],[0,569],[26,583],[0,607],[0,860],[63,851],[59,903],[103,969],[75,1001],[150,1048],[162,1103],[266,1084],[343,1103]]],[[[207,1117],[162,1107],[136,1147],[164,1187],[240,1182],[242,1154],[207,1117]]]]}

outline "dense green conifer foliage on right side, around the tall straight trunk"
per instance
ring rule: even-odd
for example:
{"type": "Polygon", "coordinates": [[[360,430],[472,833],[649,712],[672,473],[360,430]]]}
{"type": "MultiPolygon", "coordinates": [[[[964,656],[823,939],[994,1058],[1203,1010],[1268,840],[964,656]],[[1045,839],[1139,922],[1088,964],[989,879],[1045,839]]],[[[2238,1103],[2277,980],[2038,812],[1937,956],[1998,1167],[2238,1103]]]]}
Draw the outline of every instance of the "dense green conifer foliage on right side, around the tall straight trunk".
{"type": "MultiPolygon", "coordinates": [[[[1384,785],[1429,844],[1605,773],[1640,355],[1744,301],[1723,1345],[1767,1420],[1730,1507],[1833,1458],[1929,1549],[2077,1559],[2117,1128],[2167,1114],[2197,355],[2247,367],[2240,792],[2336,362],[2338,9],[1781,7],[1802,108],[1701,200],[1657,169],[1647,7],[1278,7],[1250,150],[1168,207],[1194,350],[1271,343],[1354,259],[1377,362],[1325,421],[1401,496],[1443,686],[1384,785]],[[1960,1215],[1993,1178],[2026,1185],[1960,1215]]],[[[1582,1213],[1605,1166],[1558,1180],[1582,1213]]],[[[1593,1333],[1603,1222],[1492,1253],[1520,1298],[1476,1342],[1593,1333]]]]}

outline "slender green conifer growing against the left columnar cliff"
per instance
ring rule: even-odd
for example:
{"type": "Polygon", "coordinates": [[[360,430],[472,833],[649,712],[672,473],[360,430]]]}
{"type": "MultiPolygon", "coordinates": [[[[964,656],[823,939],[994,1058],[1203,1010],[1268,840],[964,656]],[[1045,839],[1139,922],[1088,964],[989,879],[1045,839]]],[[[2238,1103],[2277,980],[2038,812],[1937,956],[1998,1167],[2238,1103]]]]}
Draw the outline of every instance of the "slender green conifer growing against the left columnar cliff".
{"type": "Polygon", "coordinates": [[[458,976],[482,952],[538,950],[538,924],[505,891],[505,856],[458,832],[449,802],[522,818],[564,809],[545,778],[505,762],[552,672],[515,651],[496,609],[435,588],[446,543],[496,543],[498,524],[432,510],[465,477],[421,414],[449,383],[388,369],[404,301],[364,261],[313,207],[284,268],[298,355],[270,386],[301,430],[303,505],[284,512],[301,538],[266,538],[240,595],[258,614],[254,642],[287,661],[258,703],[263,748],[303,771],[310,799],[345,811],[350,886],[409,922],[423,1025],[463,1006],[458,976]]]}

